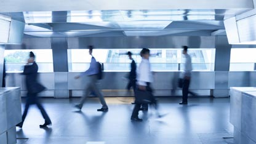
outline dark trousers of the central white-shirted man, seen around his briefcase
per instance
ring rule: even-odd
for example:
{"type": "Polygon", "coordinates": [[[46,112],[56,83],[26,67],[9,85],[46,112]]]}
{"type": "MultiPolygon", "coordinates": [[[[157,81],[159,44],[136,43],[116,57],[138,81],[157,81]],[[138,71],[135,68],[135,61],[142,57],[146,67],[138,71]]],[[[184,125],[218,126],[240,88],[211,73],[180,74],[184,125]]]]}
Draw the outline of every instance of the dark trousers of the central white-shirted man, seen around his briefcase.
{"type": "MultiPolygon", "coordinates": [[[[150,83],[147,83],[146,90],[153,92],[153,90],[150,87],[150,83]]],[[[152,95],[151,97],[151,103],[156,109],[157,109],[157,103],[156,98],[152,95]]],[[[132,111],[132,118],[138,118],[138,111],[140,111],[140,108],[148,108],[148,104],[142,104],[142,103],[135,103],[134,110],[132,111]]]]}

